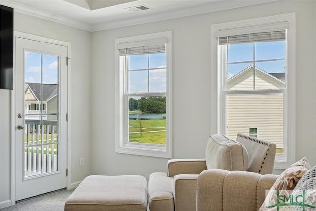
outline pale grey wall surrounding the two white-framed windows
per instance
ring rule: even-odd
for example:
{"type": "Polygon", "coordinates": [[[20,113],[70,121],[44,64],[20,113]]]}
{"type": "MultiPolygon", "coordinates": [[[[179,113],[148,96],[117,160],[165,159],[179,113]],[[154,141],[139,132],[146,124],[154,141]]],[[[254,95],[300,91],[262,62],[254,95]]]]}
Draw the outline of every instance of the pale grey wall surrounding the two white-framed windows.
{"type": "MultiPolygon", "coordinates": [[[[92,33],[92,173],[166,171],[167,159],[115,153],[119,37],[173,32],[173,158],[204,158],[210,135],[210,25],[296,12],[296,155],[316,164],[315,1],[280,1],[92,33]]],[[[213,49],[213,52],[215,50],[213,49]]],[[[276,172],[279,172],[276,170],[276,172]]]]}

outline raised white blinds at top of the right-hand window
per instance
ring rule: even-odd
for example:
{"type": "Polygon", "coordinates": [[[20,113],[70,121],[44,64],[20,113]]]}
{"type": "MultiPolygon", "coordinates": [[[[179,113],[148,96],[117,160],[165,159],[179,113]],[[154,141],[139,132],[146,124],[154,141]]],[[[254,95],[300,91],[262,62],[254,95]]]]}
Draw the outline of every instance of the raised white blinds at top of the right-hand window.
{"type": "Polygon", "coordinates": [[[258,32],[243,35],[224,36],[218,38],[219,45],[223,44],[239,44],[252,42],[273,42],[285,41],[286,30],[272,32],[258,32]]]}

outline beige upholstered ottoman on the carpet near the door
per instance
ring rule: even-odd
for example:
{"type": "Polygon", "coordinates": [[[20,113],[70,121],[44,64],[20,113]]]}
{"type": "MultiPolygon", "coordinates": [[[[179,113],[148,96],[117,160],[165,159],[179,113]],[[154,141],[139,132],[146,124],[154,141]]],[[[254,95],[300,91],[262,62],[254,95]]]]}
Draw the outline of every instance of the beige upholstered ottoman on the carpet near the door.
{"type": "Polygon", "coordinates": [[[146,211],[143,176],[87,176],[65,202],[65,211],[146,211]]]}

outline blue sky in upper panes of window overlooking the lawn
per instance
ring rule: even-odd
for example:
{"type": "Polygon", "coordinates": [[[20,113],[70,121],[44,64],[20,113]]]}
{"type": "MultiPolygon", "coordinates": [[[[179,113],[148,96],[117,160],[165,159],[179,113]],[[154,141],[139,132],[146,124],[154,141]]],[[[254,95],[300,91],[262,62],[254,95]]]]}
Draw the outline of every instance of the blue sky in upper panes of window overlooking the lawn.
{"type": "Polygon", "coordinates": [[[129,56],[129,69],[138,70],[129,72],[129,92],[147,92],[149,78],[149,92],[166,92],[166,54],[149,54],[129,56]],[[149,76],[147,75],[147,69],[149,76]],[[155,69],[159,68],[159,69],[155,69]]]}

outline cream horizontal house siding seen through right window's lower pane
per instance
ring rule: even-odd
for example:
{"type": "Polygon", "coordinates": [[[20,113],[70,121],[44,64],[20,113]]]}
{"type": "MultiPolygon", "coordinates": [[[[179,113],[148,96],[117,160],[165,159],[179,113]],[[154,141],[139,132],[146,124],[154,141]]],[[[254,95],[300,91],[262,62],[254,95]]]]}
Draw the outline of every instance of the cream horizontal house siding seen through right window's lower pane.
{"type": "Polygon", "coordinates": [[[249,134],[249,128],[257,128],[258,138],[283,149],[283,119],[283,94],[227,96],[229,138],[236,139],[238,133],[249,134]]]}

